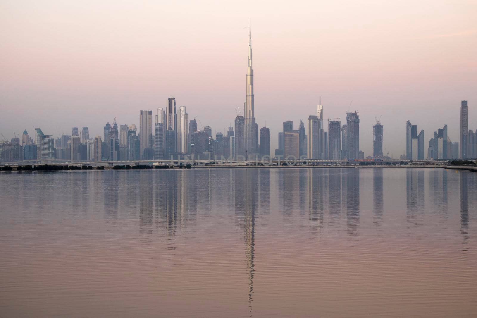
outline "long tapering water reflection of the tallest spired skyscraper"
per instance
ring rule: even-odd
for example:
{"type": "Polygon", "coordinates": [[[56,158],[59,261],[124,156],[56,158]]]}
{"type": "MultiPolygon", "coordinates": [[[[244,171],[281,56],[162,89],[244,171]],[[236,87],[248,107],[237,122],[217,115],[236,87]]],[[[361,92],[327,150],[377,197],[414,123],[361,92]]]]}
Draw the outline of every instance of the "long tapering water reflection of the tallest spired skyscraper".
{"type": "MultiPolygon", "coordinates": [[[[243,225],[245,232],[245,257],[249,280],[248,302],[250,312],[252,311],[253,276],[255,273],[255,214],[259,202],[258,175],[256,169],[234,169],[234,180],[236,180],[235,217],[243,225]]],[[[266,184],[266,177],[264,179],[263,182],[260,182],[260,186],[270,188],[270,183],[266,184]]]]}

